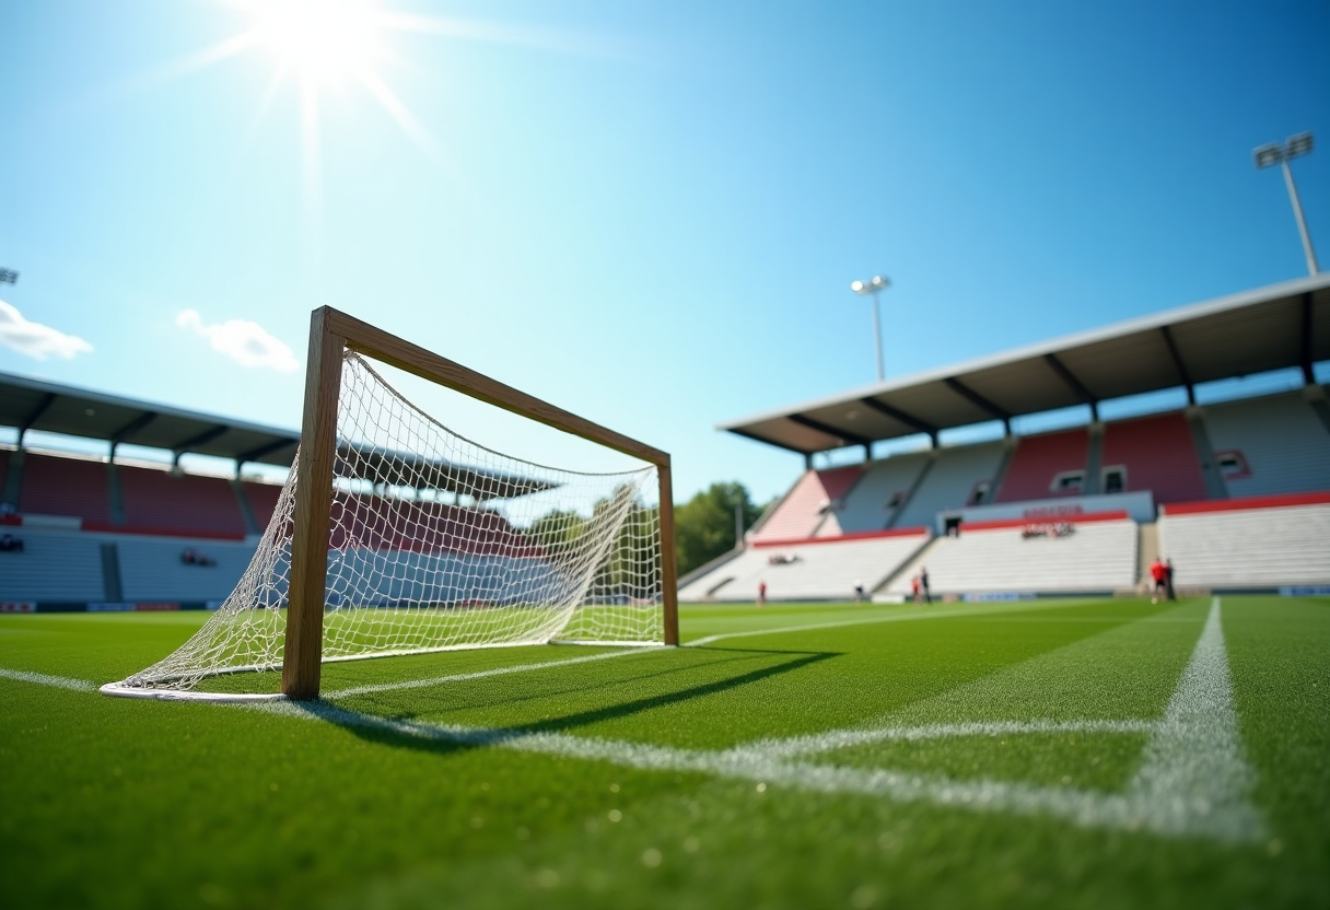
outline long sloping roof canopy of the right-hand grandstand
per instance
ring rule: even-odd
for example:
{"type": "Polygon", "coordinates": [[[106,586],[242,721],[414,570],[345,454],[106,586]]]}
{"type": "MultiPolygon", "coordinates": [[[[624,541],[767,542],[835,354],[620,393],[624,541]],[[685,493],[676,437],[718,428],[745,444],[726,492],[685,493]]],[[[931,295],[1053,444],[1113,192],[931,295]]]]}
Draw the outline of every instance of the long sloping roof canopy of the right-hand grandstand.
{"type": "Polygon", "coordinates": [[[1330,274],[1311,275],[718,424],[811,456],[1330,359],[1330,274]]]}

